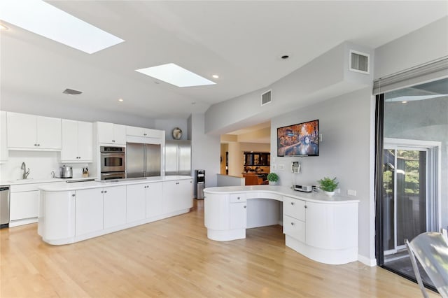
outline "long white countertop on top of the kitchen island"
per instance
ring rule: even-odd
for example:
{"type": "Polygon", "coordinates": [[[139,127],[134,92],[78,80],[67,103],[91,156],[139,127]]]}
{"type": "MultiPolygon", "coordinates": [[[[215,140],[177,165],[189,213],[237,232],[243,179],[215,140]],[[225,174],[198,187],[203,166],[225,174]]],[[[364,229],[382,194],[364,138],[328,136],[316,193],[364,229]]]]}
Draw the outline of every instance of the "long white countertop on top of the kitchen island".
{"type": "Polygon", "coordinates": [[[65,192],[71,190],[87,190],[90,188],[102,188],[102,187],[113,187],[119,185],[132,185],[132,184],[143,184],[143,183],[155,183],[170,180],[185,180],[192,179],[191,176],[155,176],[146,178],[130,178],[128,179],[117,179],[117,180],[107,180],[107,182],[101,182],[99,180],[78,182],[78,183],[47,183],[40,185],[39,190],[45,192],[65,192]]]}

